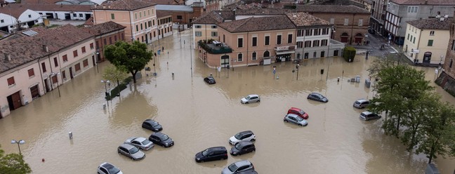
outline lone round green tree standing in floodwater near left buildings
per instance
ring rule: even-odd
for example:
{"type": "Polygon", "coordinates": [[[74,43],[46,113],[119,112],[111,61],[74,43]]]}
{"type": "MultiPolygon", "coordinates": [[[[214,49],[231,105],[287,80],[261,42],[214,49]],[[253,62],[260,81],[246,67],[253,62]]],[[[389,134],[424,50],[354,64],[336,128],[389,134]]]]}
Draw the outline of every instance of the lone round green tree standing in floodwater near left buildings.
{"type": "Polygon", "coordinates": [[[130,72],[136,83],[136,73],[144,69],[145,65],[152,60],[152,52],[147,51],[147,44],[139,41],[134,41],[133,44],[118,41],[115,45],[105,47],[105,57],[115,67],[124,67],[130,72]]]}

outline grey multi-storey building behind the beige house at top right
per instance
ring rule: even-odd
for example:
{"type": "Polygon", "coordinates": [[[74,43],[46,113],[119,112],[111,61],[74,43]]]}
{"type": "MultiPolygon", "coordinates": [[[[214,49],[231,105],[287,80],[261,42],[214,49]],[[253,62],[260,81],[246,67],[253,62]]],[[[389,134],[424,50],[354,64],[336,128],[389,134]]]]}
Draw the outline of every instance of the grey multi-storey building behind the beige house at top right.
{"type": "Polygon", "coordinates": [[[454,17],[455,1],[390,0],[385,14],[385,35],[395,44],[404,43],[407,22],[426,18],[454,17]]]}

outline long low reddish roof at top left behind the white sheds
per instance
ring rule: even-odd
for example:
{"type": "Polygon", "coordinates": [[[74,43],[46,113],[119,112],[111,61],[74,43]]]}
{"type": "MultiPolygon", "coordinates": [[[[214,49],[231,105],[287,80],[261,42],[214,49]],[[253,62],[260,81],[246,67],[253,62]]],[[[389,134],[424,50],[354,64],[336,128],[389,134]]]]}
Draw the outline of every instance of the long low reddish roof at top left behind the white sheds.
{"type": "Polygon", "coordinates": [[[87,5],[59,5],[59,4],[8,4],[4,8],[26,8],[32,11],[86,11],[91,12],[87,5]]]}

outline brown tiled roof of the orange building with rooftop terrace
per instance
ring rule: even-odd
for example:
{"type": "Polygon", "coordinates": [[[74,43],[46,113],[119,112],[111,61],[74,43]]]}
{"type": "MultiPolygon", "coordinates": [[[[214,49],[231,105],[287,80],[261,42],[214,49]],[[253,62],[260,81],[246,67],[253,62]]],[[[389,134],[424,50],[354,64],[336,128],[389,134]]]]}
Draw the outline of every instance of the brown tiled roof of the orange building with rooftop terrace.
{"type": "Polygon", "coordinates": [[[284,15],[261,18],[245,18],[218,24],[227,32],[257,32],[276,29],[293,29],[296,26],[284,15]]]}

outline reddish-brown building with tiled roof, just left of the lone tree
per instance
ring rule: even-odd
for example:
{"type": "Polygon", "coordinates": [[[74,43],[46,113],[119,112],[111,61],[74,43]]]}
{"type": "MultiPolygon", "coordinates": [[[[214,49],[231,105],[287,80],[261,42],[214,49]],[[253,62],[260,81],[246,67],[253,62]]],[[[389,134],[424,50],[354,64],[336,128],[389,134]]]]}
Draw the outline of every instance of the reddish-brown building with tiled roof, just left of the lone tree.
{"type": "MultiPolygon", "coordinates": [[[[95,39],[95,63],[105,61],[104,47],[115,44],[117,41],[125,41],[125,26],[116,22],[104,22],[91,27],[85,27],[84,30],[93,35],[95,39]]],[[[98,68],[98,67],[97,67],[98,68]]]]}

